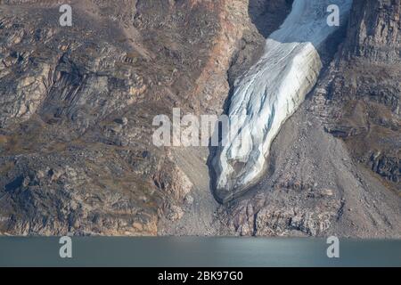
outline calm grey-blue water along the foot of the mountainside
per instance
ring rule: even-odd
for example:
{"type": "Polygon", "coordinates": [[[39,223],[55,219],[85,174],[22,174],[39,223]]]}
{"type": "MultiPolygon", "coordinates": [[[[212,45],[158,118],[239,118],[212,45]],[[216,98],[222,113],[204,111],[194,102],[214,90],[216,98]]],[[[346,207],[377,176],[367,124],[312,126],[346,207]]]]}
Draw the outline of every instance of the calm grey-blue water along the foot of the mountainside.
{"type": "Polygon", "coordinates": [[[263,238],[72,238],[71,259],[58,238],[0,238],[0,266],[401,266],[401,240],[263,238]]]}

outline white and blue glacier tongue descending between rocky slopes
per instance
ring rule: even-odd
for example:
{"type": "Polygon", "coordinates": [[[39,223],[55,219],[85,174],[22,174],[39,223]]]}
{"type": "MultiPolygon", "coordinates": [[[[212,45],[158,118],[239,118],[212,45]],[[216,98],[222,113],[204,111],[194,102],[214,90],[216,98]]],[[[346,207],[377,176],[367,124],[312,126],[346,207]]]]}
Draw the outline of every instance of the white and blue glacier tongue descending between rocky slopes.
{"type": "Polygon", "coordinates": [[[233,199],[263,175],[274,137],[317,81],[319,47],[339,28],[327,23],[331,4],[340,8],[342,24],[352,0],[295,0],[258,63],[235,82],[228,117],[241,132],[225,138],[213,160],[217,199],[233,199]]]}

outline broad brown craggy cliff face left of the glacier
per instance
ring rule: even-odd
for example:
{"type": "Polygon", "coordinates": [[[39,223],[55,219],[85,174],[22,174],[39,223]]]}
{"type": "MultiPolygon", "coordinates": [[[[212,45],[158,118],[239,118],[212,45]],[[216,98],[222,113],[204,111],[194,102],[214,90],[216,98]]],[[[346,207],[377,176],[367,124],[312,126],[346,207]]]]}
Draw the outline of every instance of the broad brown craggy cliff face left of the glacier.
{"type": "Polygon", "coordinates": [[[217,82],[221,5],[70,4],[65,28],[56,2],[0,6],[0,232],[155,235],[192,183],[151,120],[217,82]]]}

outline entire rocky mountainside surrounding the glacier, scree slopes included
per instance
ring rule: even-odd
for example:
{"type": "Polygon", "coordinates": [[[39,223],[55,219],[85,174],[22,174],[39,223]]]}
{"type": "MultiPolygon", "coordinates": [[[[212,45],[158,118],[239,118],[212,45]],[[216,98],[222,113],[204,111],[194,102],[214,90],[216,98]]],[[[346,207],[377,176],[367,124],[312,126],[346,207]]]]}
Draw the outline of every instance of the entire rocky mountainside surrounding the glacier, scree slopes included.
{"type": "Polygon", "coordinates": [[[221,113],[291,1],[68,2],[72,27],[0,4],[0,234],[399,237],[399,1],[354,2],[266,177],[220,206],[208,148],[156,148],[151,120],[221,113]]]}

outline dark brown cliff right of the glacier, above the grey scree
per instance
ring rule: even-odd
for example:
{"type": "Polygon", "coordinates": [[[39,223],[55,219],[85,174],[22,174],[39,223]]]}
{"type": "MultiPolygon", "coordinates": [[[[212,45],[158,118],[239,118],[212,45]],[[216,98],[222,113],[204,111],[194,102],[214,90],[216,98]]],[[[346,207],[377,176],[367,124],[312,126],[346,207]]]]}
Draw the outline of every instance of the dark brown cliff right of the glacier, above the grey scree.
{"type": "Polygon", "coordinates": [[[340,56],[324,80],[338,115],[328,130],[353,156],[400,188],[401,4],[358,1],[340,56]]]}

